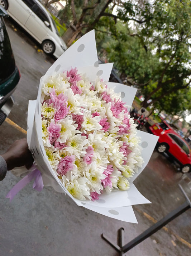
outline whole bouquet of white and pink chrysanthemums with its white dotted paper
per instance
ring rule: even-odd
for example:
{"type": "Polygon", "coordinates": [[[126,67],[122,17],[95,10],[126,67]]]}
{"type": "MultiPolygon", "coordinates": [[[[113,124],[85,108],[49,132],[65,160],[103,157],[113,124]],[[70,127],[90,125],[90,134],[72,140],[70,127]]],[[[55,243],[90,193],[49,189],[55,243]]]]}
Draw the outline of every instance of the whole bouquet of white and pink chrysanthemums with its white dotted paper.
{"type": "Polygon", "coordinates": [[[136,89],[108,82],[112,66],[98,64],[90,31],[48,69],[37,100],[29,101],[27,140],[35,164],[27,175],[37,190],[43,182],[79,206],[137,222],[132,205],[149,201],[133,180],[157,137],[136,129],[129,114],[136,89]]]}

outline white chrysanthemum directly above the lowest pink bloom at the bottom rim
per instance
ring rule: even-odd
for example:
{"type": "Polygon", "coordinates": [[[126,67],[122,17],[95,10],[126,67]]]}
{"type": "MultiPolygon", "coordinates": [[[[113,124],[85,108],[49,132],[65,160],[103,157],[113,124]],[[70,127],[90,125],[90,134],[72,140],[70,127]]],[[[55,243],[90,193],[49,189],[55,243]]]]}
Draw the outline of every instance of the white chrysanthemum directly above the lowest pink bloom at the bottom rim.
{"type": "Polygon", "coordinates": [[[100,191],[103,189],[102,180],[106,178],[104,168],[97,168],[96,163],[92,162],[87,166],[86,178],[88,179],[87,184],[92,192],[100,194],[100,191]]]}

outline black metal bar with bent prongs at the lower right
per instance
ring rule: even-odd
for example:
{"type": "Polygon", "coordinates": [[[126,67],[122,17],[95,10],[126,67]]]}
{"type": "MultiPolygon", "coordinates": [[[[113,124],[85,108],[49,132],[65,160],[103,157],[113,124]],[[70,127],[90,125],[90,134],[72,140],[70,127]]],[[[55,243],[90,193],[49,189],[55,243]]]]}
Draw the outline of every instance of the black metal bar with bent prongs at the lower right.
{"type": "Polygon", "coordinates": [[[182,186],[179,184],[180,189],[182,190],[182,193],[186,197],[186,202],[183,203],[181,206],[170,212],[168,215],[166,215],[164,218],[159,220],[157,223],[155,223],[153,226],[145,230],[142,234],[138,235],[138,237],[134,238],[129,243],[124,244],[124,228],[118,229],[118,244],[113,243],[106,235],[101,234],[101,237],[108,242],[117,252],[119,252],[119,256],[123,256],[125,252],[132,249],[134,246],[139,244],[140,242],[144,241],[146,238],[150,237],[152,234],[157,232],[159,229],[161,229],[163,226],[165,226],[167,223],[169,223],[171,220],[175,219],[179,215],[181,215],[183,212],[187,211],[191,208],[191,201],[188,198],[188,195],[186,194],[185,190],[182,188],[182,186]]]}

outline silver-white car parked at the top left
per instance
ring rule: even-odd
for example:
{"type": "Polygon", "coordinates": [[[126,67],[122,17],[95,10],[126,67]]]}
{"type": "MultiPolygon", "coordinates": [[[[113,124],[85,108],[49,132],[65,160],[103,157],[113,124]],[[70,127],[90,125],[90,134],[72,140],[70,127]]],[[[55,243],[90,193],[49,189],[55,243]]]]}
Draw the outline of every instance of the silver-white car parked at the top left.
{"type": "Polygon", "coordinates": [[[42,45],[45,53],[59,58],[67,50],[51,14],[38,0],[0,0],[0,4],[42,45]]]}

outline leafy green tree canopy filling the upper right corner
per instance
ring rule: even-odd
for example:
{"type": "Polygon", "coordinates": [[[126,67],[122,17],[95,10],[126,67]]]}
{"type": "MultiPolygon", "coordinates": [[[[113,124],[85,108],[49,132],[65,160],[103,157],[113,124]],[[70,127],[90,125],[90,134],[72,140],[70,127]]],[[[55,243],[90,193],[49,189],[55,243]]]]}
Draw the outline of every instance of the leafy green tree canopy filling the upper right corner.
{"type": "MultiPolygon", "coordinates": [[[[190,1],[148,1],[137,2],[136,6],[127,1],[118,11],[121,20],[134,21],[129,26],[121,23],[118,41],[111,44],[109,59],[114,61],[121,73],[133,78],[152,104],[164,96],[175,95],[178,90],[190,85],[190,42],[191,6],[190,1]],[[117,52],[117,54],[116,54],[117,52]]],[[[118,26],[119,28],[119,26],[118,26]]],[[[149,103],[151,104],[151,103],[149,103]]]]}

